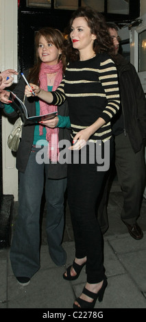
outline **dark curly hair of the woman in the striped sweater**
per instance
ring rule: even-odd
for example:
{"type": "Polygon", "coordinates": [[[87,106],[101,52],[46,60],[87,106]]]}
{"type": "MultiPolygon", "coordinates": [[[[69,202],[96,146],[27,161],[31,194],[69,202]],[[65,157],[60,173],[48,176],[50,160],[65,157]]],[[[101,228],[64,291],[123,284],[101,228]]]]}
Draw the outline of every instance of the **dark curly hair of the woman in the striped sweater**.
{"type": "Polygon", "coordinates": [[[90,33],[97,36],[97,39],[94,40],[93,45],[93,50],[95,53],[106,51],[112,54],[113,44],[108,33],[104,16],[100,12],[97,12],[90,7],[81,7],[73,12],[69,27],[66,29],[68,36],[66,37],[66,40],[64,40],[64,50],[67,60],[79,59],[79,51],[77,49],[73,49],[71,38],[69,36],[71,33],[73,20],[78,17],[84,17],[88,23],[88,27],[90,28],[90,33]]]}

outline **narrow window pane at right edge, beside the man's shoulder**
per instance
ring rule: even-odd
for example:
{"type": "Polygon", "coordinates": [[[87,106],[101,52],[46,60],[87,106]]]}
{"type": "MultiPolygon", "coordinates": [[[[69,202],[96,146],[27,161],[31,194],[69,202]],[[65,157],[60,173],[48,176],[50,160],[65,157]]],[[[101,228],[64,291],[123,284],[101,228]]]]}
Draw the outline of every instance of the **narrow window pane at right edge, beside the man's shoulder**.
{"type": "Polygon", "coordinates": [[[139,34],[139,66],[138,71],[146,71],[146,30],[139,34]]]}

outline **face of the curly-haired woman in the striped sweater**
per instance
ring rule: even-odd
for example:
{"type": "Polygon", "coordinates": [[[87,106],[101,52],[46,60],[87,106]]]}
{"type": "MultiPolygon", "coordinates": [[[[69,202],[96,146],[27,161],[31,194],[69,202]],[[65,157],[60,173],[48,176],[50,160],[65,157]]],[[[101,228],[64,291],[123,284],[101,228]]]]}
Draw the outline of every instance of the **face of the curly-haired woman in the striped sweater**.
{"type": "Polygon", "coordinates": [[[73,20],[70,37],[73,48],[79,51],[93,49],[93,42],[96,39],[96,36],[90,33],[90,28],[84,17],[73,20]]]}

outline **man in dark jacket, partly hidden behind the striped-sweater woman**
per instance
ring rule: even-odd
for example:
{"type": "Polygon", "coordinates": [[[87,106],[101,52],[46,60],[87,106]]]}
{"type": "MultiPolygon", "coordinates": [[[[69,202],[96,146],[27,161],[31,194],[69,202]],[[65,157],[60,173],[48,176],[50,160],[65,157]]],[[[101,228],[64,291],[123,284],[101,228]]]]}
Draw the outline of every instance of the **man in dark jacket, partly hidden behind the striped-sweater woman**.
{"type": "MultiPolygon", "coordinates": [[[[130,235],[138,240],[143,238],[143,232],[136,219],[140,215],[145,187],[143,140],[146,138],[146,100],[134,66],[118,53],[117,26],[109,23],[108,30],[114,44],[114,62],[117,64],[121,92],[121,110],[113,119],[112,126],[115,136],[115,166],[123,192],[121,219],[130,235]]],[[[98,210],[103,233],[108,229],[107,189],[108,182],[98,210]]]]}

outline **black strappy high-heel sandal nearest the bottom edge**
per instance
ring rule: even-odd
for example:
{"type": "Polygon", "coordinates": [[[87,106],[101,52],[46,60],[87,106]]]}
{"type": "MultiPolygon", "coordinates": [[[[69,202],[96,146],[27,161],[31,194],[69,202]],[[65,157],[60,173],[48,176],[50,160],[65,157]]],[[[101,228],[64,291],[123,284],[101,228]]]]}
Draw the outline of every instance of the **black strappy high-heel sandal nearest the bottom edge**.
{"type": "Polygon", "coordinates": [[[87,290],[84,287],[83,290],[83,294],[87,295],[88,297],[91,297],[91,299],[93,299],[92,302],[88,302],[88,301],[84,301],[84,299],[80,299],[80,297],[77,297],[76,301],[80,306],[77,306],[75,303],[73,304],[73,308],[94,308],[95,307],[95,303],[97,301],[97,299],[99,300],[99,302],[101,302],[103,300],[104,297],[104,292],[106,290],[106,286],[108,285],[107,282],[107,278],[106,276],[104,277],[104,282],[100,288],[100,290],[98,291],[98,293],[93,293],[90,292],[90,290],[87,290]]]}

